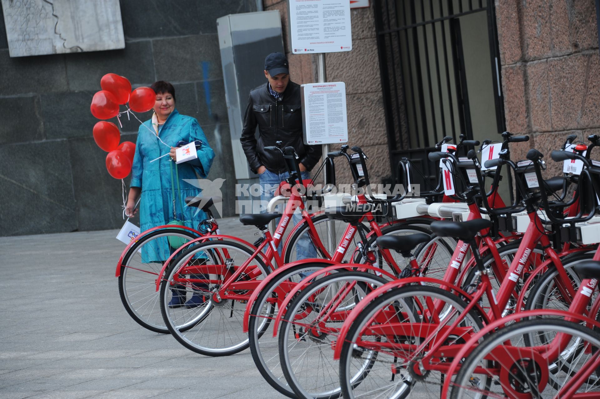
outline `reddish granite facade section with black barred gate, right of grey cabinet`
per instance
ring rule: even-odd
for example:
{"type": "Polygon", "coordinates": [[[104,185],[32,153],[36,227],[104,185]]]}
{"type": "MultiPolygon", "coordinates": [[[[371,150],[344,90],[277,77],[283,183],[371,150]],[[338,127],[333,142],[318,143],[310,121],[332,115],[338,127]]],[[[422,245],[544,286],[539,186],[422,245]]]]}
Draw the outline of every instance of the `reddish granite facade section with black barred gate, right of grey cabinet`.
{"type": "MultiPolygon", "coordinates": [[[[287,1],[263,4],[289,26],[287,1]]],[[[346,82],[350,143],[371,158],[371,180],[391,178],[401,157],[431,176],[426,155],[444,136],[529,134],[511,147],[518,160],[530,148],[549,154],[569,134],[586,142],[598,133],[597,4],[371,0],[351,10],[353,49],[326,55],[327,80],[346,82]]],[[[289,58],[293,79],[316,81],[310,55],[289,58]]],[[[547,163],[548,176],[560,173],[547,163]]]]}

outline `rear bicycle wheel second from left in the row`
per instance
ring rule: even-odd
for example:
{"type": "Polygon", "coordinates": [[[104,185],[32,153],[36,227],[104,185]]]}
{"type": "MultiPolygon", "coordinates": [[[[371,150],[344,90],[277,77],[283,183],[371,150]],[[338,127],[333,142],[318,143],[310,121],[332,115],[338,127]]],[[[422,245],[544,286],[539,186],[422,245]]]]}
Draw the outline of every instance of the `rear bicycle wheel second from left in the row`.
{"type": "MultiPolygon", "coordinates": [[[[267,274],[262,259],[237,242],[194,245],[169,266],[161,283],[164,322],[173,337],[193,352],[206,356],[240,352],[248,347],[248,335],[242,332],[246,303],[267,274]],[[176,296],[190,298],[192,303],[169,305],[176,296]]],[[[259,330],[266,328],[267,320],[263,319],[259,330]]]]}

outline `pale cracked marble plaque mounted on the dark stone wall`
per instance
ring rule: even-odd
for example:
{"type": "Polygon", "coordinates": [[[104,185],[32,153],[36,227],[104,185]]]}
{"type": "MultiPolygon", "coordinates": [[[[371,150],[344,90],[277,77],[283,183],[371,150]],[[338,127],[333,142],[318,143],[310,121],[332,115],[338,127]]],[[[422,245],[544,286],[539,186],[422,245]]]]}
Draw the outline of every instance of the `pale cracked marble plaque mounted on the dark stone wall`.
{"type": "Polygon", "coordinates": [[[11,57],[125,48],[119,0],[1,0],[11,57]]]}

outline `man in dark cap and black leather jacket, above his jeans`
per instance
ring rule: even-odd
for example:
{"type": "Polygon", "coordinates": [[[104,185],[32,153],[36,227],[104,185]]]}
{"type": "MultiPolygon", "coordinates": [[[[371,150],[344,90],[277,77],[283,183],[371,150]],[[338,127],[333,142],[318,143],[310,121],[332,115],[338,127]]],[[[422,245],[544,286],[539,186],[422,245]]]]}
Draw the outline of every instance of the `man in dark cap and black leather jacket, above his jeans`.
{"type": "Polygon", "coordinates": [[[300,170],[311,170],[322,154],[320,145],[305,145],[302,142],[302,107],[300,86],[289,79],[286,56],[271,53],[265,59],[265,77],[268,82],[250,92],[244,116],[244,128],[240,142],[250,164],[250,169],[259,175],[269,170],[273,173],[286,172],[280,152],[265,151],[281,141],[281,148],[292,146],[300,157],[300,170]],[[259,127],[258,142],[254,138],[259,127]]]}

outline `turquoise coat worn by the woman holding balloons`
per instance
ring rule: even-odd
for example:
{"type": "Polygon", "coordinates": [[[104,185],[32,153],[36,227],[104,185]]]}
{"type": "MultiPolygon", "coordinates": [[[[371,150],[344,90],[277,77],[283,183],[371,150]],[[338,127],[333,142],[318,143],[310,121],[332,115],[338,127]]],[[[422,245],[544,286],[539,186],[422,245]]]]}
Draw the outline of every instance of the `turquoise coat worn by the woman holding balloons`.
{"type": "MultiPolygon", "coordinates": [[[[202,147],[197,149],[197,154],[202,167],[191,166],[187,162],[176,165],[168,155],[155,160],[155,158],[167,154],[170,148],[161,143],[153,132],[152,120],[140,125],[137,131],[136,153],[131,168],[131,187],[142,188],[139,205],[140,230],[144,232],[152,227],[173,221],[171,168],[173,179],[175,179],[175,167],[179,173],[179,193],[176,181],[173,182],[177,219],[183,221],[185,226],[197,229],[200,221],[206,219],[206,214],[199,211],[198,208],[186,206],[184,199],[188,196],[197,196],[202,190],[185,182],[184,179],[194,179],[194,181],[197,178],[205,179],[211,169],[215,153],[196,118],[181,115],[176,109],[167,118],[160,130],[159,137],[167,145],[173,147],[180,141],[189,143],[200,140],[202,147]]],[[[154,241],[157,242],[153,244],[152,251],[150,251],[151,248],[142,251],[143,262],[164,262],[172,252],[166,238],[163,240],[164,242],[160,242],[158,239],[154,241]]]]}

